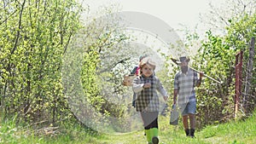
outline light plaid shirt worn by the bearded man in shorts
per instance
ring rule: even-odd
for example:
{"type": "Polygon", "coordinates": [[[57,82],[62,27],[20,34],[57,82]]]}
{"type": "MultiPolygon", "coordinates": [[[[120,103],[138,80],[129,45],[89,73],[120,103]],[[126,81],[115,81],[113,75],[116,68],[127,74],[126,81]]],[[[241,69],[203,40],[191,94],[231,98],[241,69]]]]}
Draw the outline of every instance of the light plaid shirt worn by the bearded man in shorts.
{"type": "Polygon", "coordinates": [[[196,101],[195,84],[198,83],[197,73],[188,69],[187,73],[177,72],[174,78],[174,89],[177,89],[178,104],[196,101]]]}

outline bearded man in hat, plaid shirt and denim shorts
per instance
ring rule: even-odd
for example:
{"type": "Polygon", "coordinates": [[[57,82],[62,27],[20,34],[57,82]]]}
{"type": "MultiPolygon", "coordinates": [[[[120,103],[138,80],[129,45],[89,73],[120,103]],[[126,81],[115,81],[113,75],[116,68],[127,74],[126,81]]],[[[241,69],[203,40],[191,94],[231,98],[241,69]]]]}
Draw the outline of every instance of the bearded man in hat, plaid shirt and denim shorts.
{"type": "Polygon", "coordinates": [[[180,57],[178,61],[181,71],[177,72],[174,78],[174,96],[173,104],[176,104],[178,97],[178,107],[183,115],[183,127],[187,136],[195,137],[195,86],[201,85],[203,73],[200,73],[198,79],[197,73],[189,69],[189,58],[180,57]],[[189,129],[190,123],[190,129],[189,129]]]}

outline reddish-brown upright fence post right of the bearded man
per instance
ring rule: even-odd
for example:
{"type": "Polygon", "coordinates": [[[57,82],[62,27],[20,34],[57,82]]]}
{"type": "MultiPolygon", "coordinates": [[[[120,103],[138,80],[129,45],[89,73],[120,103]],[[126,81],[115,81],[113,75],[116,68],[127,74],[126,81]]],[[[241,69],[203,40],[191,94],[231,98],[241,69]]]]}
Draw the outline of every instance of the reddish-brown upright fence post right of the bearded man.
{"type": "Polygon", "coordinates": [[[240,51],[236,54],[236,83],[235,83],[235,118],[238,112],[239,96],[241,95],[241,66],[242,66],[242,54],[240,51]]]}

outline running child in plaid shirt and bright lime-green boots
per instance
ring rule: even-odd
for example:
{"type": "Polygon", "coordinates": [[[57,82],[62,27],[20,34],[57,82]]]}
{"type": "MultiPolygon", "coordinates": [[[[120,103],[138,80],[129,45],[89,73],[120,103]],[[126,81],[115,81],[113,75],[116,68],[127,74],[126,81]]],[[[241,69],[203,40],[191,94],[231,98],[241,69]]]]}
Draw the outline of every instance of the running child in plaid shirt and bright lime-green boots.
{"type": "Polygon", "coordinates": [[[167,100],[166,89],[160,83],[160,79],[154,76],[155,64],[150,58],[140,62],[141,75],[133,81],[133,91],[137,93],[136,110],[143,118],[144,130],[148,143],[158,143],[158,115],[160,111],[159,95],[167,100]]]}

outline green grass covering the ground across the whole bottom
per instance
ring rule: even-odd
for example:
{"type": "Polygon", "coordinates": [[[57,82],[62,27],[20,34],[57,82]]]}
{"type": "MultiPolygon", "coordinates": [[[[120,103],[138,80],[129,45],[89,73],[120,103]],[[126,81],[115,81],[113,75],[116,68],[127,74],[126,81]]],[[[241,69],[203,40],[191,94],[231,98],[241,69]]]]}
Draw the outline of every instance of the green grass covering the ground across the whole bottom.
{"type": "MultiPolygon", "coordinates": [[[[209,125],[201,131],[195,131],[195,139],[186,137],[182,123],[169,124],[169,116],[159,118],[160,143],[165,144],[254,144],[256,143],[256,112],[245,121],[232,121],[226,124],[209,125]]],[[[66,124],[59,128],[56,135],[32,135],[32,130],[17,126],[14,120],[4,121],[0,125],[0,143],[42,143],[42,144],[145,144],[143,130],[125,134],[99,134],[83,129],[79,125],[66,124]]]]}

